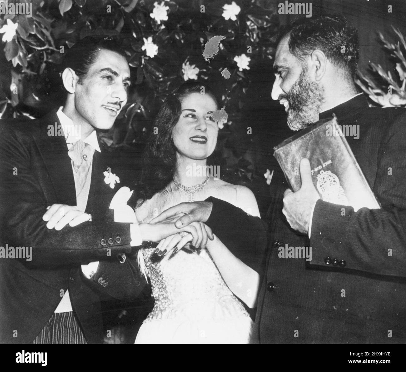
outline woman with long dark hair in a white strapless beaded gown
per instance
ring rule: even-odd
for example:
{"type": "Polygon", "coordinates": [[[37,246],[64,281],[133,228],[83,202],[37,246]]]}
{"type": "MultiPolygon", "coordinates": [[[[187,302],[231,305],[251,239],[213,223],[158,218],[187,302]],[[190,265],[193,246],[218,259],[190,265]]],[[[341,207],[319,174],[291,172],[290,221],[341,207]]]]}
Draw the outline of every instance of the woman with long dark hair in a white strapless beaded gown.
{"type": "MultiPolygon", "coordinates": [[[[212,114],[218,106],[215,93],[199,82],[183,84],[165,100],[138,188],[136,218],[141,225],[174,205],[208,197],[259,216],[248,188],[190,172],[207,167],[216,147],[218,122],[212,114]]],[[[158,244],[147,242],[138,251],[140,270],[151,279],[155,306],[138,332],[137,344],[248,343],[252,321],[242,302],[255,307],[259,274],[218,237],[208,240],[209,228],[203,222],[193,224],[201,225],[197,240],[188,233],[175,234],[158,244]]]]}

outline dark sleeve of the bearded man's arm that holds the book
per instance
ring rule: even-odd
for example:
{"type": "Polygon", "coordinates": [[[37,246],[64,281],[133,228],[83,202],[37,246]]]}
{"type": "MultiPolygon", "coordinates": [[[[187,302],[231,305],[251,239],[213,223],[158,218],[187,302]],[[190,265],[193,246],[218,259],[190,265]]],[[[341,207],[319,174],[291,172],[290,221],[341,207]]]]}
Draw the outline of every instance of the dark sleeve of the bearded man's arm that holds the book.
{"type": "Polygon", "coordinates": [[[311,226],[311,265],[344,261],[339,270],[406,277],[406,115],[382,138],[374,192],[382,209],[317,201],[311,226]]]}

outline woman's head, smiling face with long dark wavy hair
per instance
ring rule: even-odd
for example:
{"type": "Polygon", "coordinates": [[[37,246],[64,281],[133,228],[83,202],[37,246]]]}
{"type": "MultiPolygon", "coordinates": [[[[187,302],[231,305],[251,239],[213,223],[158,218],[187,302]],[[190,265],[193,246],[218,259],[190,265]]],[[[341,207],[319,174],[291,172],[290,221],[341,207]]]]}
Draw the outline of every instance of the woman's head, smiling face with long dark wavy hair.
{"type": "Polygon", "coordinates": [[[139,204],[172,181],[177,162],[185,157],[214,164],[218,123],[212,113],[219,106],[217,94],[203,82],[185,83],[164,101],[144,153],[141,181],[135,185],[139,204]]]}

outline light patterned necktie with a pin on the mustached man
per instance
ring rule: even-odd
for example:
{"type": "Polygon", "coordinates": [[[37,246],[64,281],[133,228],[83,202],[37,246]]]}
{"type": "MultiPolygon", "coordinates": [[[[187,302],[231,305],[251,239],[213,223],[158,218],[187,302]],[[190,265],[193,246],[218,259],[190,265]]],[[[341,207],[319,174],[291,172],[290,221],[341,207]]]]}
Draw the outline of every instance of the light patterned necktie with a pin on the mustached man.
{"type": "Polygon", "coordinates": [[[73,169],[76,172],[76,195],[79,195],[86,182],[86,177],[89,174],[90,166],[92,164],[93,154],[95,149],[82,140],[76,142],[68,151],[68,155],[73,161],[73,169]]]}

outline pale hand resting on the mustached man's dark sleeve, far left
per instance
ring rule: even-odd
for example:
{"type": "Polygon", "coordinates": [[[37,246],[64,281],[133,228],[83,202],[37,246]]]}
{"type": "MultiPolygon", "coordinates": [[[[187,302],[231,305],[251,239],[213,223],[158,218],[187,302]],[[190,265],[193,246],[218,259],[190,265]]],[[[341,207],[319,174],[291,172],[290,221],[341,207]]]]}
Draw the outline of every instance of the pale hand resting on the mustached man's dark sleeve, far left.
{"type": "Polygon", "coordinates": [[[77,226],[82,222],[91,221],[91,214],[82,212],[77,205],[52,204],[42,216],[48,221],[48,229],[61,230],[67,224],[77,226]]]}

